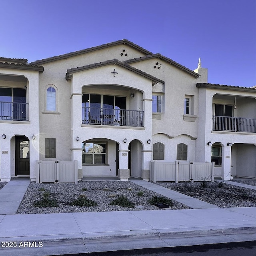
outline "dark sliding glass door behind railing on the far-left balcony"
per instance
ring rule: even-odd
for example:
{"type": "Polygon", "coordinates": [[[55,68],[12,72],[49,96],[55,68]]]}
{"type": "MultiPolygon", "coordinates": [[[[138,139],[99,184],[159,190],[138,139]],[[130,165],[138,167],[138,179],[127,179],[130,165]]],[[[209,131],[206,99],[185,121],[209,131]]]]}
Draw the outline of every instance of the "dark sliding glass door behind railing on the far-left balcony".
{"type": "Polygon", "coordinates": [[[0,88],[0,120],[28,120],[24,88],[0,88]]]}

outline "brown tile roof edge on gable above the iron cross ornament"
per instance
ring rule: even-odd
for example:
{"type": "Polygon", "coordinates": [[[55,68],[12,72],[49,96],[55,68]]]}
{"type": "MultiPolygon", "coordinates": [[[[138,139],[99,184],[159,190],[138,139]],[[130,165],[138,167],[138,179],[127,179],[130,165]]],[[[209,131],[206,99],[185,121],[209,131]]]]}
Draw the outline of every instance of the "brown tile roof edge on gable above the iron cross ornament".
{"type": "Polygon", "coordinates": [[[163,80],[160,80],[154,76],[151,76],[150,74],[147,74],[137,68],[134,68],[128,64],[125,64],[124,62],[120,62],[119,60],[106,60],[106,61],[103,61],[103,62],[99,62],[99,63],[94,63],[94,64],[90,64],[90,65],[86,65],[86,66],[82,66],[82,67],[77,67],[77,68],[71,68],[71,69],[68,69],[67,70],[67,73],[66,73],[66,80],[70,79],[70,75],[73,74],[73,73],[76,73],[76,72],[80,72],[80,71],[83,71],[83,70],[89,70],[89,69],[92,69],[92,68],[98,68],[99,66],[106,66],[106,65],[111,65],[111,64],[116,64],[116,65],[119,65],[123,68],[126,68],[136,74],[139,74],[141,76],[144,76],[150,80],[152,80],[154,82],[154,84],[160,82],[162,84],[164,84],[164,81],[163,80]]]}

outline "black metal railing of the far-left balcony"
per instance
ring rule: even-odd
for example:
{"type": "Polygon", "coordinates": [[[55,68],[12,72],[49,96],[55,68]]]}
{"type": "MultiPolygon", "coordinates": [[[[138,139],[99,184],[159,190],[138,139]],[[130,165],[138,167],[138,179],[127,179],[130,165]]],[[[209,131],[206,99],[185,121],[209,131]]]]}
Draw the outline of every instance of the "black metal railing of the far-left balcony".
{"type": "Polygon", "coordinates": [[[0,120],[28,121],[28,103],[0,102],[0,120]]]}

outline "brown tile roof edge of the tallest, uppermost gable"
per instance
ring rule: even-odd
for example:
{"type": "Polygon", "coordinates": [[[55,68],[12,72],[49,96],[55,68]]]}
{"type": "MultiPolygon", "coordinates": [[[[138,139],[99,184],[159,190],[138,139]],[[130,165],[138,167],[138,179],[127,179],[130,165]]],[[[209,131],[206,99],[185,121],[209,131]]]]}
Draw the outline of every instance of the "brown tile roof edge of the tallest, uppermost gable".
{"type": "Polygon", "coordinates": [[[43,59],[43,60],[36,60],[34,62],[31,62],[30,64],[43,64],[43,63],[47,63],[47,62],[51,62],[51,61],[55,61],[55,60],[61,60],[61,59],[69,58],[69,57],[72,57],[72,56],[77,56],[77,55],[84,54],[84,53],[87,53],[87,52],[92,52],[92,51],[95,51],[95,50],[108,48],[108,47],[119,45],[119,44],[127,44],[127,45],[139,50],[140,52],[143,52],[144,54],[147,54],[147,55],[152,54],[152,52],[149,52],[148,50],[138,46],[137,44],[134,44],[133,42],[130,42],[127,39],[123,39],[123,40],[118,40],[118,41],[111,42],[111,43],[108,43],[108,44],[102,44],[102,45],[99,45],[99,46],[94,46],[94,47],[87,48],[87,49],[80,50],[80,51],[76,51],[76,52],[70,52],[70,53],[67,53],[67,54],[62,54],[62,55],[54,56],[54,57],[51,57],[51,58],[46,58],[46,59],[43,59]]]}

